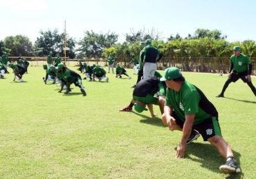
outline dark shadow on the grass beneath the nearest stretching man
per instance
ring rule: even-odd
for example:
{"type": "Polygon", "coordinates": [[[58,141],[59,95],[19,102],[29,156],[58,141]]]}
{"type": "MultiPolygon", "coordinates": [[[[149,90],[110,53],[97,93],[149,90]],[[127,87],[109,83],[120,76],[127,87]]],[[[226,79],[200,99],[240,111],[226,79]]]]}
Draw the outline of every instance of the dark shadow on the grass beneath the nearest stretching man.
{"type": "MultiPolygon", "coordinates": [[[[239,158],[241,157],[241,154],[234,150],[233,154],[240,164],[239,158]]],[[[190,143],[187,145],[186,158],[190,158],[194,162],[199,162],[201,163],[201,167],[216,173],[220,172],[219,167],[226,162],[226,160],[219,155],[217,149],[209,143],[190,143]]],[[[226,174],[226,178],[243,178],[243,176],[242,172],[239,174],[226,174]]]]}

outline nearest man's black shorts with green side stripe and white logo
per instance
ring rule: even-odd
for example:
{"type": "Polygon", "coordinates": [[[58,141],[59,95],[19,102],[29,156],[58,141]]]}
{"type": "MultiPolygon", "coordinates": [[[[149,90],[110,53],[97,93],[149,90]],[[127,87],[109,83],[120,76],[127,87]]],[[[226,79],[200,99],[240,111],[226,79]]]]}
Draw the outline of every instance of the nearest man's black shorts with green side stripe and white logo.
{"type": "MultiPolygon", "coordinates": [[[[176,119],[176,124],[183,128],[184,122],[176,115],[175,112],[172,112],[172,117],[176,119]]],[[[219,120],[216,116],[212,116],[205,119],[202,123],[193,125],[192,129],[199,131],[204,141],[207,141],[208,138],[213,136],[221,136],[221,127],[219,126],[219,120]]]]}

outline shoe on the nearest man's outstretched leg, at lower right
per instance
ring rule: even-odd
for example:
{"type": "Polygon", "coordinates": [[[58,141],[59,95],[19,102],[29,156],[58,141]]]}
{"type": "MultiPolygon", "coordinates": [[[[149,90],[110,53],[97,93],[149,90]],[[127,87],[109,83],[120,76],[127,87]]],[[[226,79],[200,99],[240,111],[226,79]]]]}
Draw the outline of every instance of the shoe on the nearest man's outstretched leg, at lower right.
{"type": "Polygon", "coordinates": [[[241,169],[239,168],[237,161],[234,157],[228,157],[226,164],[221,165],[219,170],[223,173],[240,173],[241,169]]]}

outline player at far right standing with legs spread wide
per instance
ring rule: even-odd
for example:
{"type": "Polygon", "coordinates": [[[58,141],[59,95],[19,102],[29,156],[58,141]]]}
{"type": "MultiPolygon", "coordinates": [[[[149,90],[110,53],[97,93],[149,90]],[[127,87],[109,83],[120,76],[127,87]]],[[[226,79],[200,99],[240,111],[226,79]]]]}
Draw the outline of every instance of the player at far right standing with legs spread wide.
{"type": "Polygon", "coordinates": [[[216,97],[224,97],[224,92],[226,91],[228,85],[231,82],[235,83],[237,80],[239,80],[239,78],[241,78],[244,83],[247,83],[250,89],[252,89],[253,94],[256,96],[256,89],[250,78],[253,68],[250,59],[248,56],[241,53],[241,48],[239,46],[235,46],[233,48],[233,53],[234,54],[232,54],[230,57],[230,75],[223,86],[221,94],[216,97]]]}

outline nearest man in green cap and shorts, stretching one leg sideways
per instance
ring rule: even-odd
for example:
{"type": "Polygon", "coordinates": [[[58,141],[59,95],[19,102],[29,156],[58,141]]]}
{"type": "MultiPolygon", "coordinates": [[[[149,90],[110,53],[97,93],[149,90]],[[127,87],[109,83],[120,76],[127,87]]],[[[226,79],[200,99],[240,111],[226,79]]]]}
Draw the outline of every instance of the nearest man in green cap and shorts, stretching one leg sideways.
{"type": "Polygon", "coordinates": [[[240,168],[234,158],[228,143],[221,136],[217,109],[199,88],[185,81],[177,67],[165,70],[164,77],[167,85],[164,114],[162,121],[171,131],[182,131],[182,137],[176,150],[177,158],[185,157],[185,147],[191,134],[194,138],[199,134],[203,140],[217,148],[219,154],[226,158],[226,164],[219,168],[222,172],[239,173],[240,168]],[[196,131],[195,131],[196,130],[196,131]]]}

